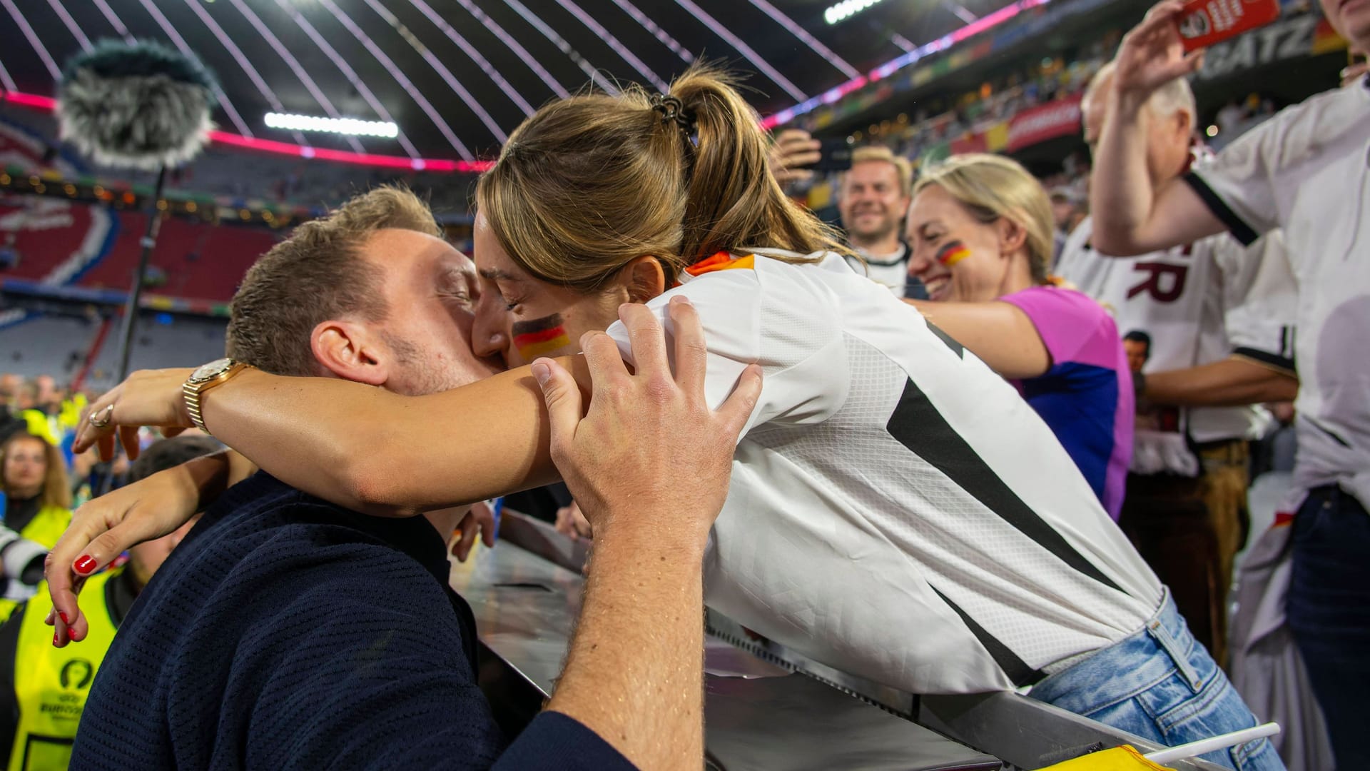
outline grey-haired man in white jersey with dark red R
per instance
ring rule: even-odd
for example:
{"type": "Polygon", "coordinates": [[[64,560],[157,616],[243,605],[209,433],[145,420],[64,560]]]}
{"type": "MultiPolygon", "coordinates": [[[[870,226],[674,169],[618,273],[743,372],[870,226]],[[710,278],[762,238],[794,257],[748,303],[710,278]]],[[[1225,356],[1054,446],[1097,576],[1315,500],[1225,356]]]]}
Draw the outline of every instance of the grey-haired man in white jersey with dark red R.
{"type": "MultiPolygon", "coordinates": [[[[1085,141],[1111,119],[1114,66],[1085,93],[1085,141]]],[[[1195,99],[1175,78],[1143,112],[1145,167],[1156,188],[1189,169],[1195,99]]],[[[1278,235],[1244,247],[1222,233],[1119,259],[1093,248],[1086,220],[1058,273],[1114,309],[1122,329],[1149,335],[1133,386],[1138,402],[1119,524],[1171,587],[1195,637],[1226,661],[1233,558],[1247,541],[1248,442],[1273,428],[1262,402],[1292,399],[1293,277],[1278,235]]]]}

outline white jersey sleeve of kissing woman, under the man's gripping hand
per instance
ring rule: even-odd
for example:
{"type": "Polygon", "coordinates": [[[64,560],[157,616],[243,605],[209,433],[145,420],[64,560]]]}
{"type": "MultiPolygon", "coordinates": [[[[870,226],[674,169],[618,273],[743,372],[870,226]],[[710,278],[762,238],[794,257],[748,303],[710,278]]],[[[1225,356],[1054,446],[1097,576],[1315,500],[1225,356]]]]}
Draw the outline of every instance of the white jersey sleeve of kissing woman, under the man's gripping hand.
{"type": "MultiPolygon", "coordinates": [[[[689,298],[704,325],[708,346],[704,391],[710,406],[717,409],[727,399],[747,365],[762,365],[762,395],[743,434],[770,421],[819,423],[845,402],[849,368],[841,325],[836,317],[822,322],[826,303],[821,298],[786,296],[786,303],[804,309],[815,324],[806,324],[804,333],[786,329],[777,336],[775,329],[763,325],[764,299],[756,272],[719,270],[693,278],[647,303],[666,329],[673,366],[674,325],[666,306],[677,294],[689,298]]],[[[633,364],[623,322],[615,321],[607,332],[623,359],[633,364]]]]}

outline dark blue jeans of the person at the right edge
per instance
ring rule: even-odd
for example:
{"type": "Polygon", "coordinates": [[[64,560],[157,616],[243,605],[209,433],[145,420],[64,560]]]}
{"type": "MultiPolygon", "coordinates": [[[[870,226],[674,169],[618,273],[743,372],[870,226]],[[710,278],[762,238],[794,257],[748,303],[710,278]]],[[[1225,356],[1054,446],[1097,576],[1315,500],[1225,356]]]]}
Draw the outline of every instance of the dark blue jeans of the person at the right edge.
{"type": "Polygon", "coordinates": [[[1328,719],[1337,768],[1367,768],[1370,514],[1328,486],[1308,493],[1292,527],[1285,619],[1328,719]]]}

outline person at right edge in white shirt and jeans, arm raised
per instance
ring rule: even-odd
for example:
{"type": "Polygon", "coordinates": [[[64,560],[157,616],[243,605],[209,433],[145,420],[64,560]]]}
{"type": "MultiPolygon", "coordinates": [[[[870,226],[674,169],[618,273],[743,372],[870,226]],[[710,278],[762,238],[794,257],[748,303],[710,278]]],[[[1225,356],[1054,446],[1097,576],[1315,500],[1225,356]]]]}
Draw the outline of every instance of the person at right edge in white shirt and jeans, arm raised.
{"type": "MultiPolygon", "coordinates": [[[[1332,26],[1370,49],[1370,0],[1321,0],[1332,26]]],[[[1285,616],[1328,719],[1338,768],[1370,764],[1370,80],[1295,104],[1152,187],[1141,111],[1162,84],[1199,69],[1185,5],[1155,5],[1118,51],[1095,161],[1095,246],[1132,255],[1223,229],[1243,241],[1284,228],[1299,289],[1299,454],[1285,616]]]]}

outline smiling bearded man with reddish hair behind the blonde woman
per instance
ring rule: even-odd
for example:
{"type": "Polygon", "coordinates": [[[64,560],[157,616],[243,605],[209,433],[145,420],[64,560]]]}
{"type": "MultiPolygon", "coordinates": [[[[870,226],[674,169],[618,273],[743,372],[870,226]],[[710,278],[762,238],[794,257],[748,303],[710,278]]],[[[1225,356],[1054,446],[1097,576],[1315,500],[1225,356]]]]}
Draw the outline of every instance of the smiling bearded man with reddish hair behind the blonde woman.
{"type": "Polygon", "coordinates": [[[922,284],[908,276],[908,244],[900,237],[912,178],[907,158],[888,147],[858,147],[837,188],[837,210],[847,243],[860,257],[847,258],[852,268],[896,296],[926,299],[922,284]]]}

